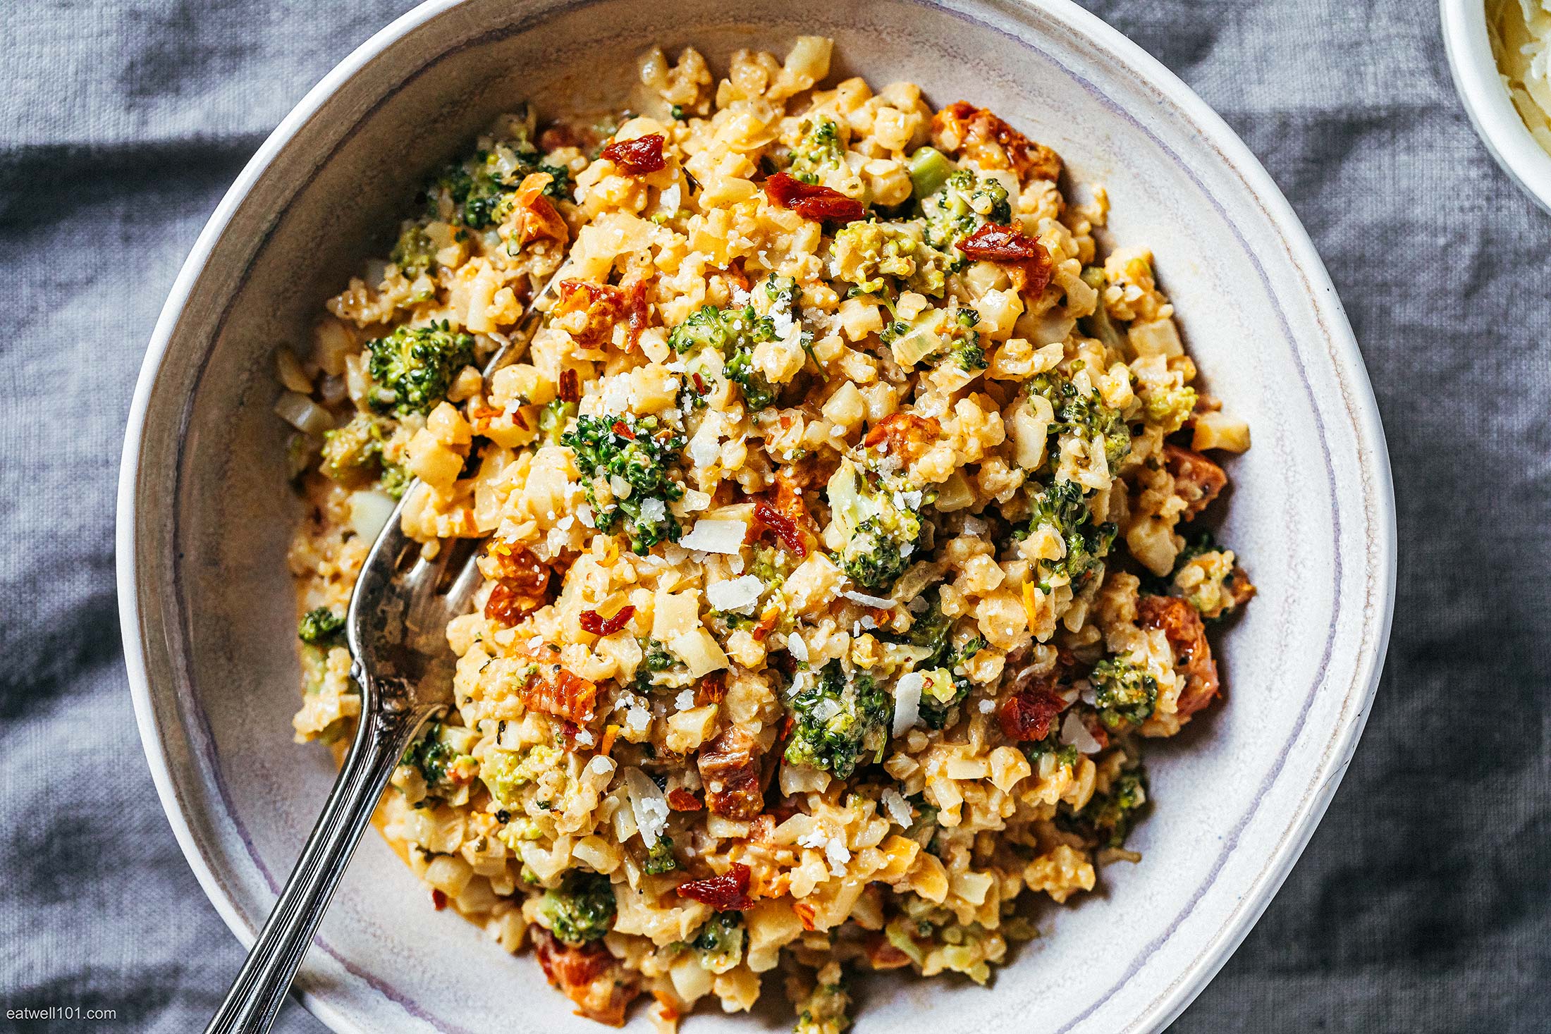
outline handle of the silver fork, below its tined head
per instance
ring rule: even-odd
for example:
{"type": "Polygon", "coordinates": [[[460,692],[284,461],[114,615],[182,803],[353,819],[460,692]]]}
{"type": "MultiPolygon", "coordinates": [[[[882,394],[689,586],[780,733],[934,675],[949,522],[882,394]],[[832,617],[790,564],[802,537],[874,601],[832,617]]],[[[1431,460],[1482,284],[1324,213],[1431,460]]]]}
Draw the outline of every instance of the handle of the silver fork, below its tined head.
{"type": "MultiPolygon", "coordinates": [[[[369,690],[371,687],[363,687],[369,690]]],[[[242,964],[226,1000],[205,1034],[264,1034],[285,1001],[292,978],[301,966],[312,935],[344,874],[344,867],[361,840],[366,823],[388,786],[388,778],[409,747],[420,724],[434,708],[386,710],[368,707],[369,691],[361,693],[363,716],[355,741],[333,781],[318,825],[296,859],[275,910],[264,921],[248,961],[242,964]]]]}

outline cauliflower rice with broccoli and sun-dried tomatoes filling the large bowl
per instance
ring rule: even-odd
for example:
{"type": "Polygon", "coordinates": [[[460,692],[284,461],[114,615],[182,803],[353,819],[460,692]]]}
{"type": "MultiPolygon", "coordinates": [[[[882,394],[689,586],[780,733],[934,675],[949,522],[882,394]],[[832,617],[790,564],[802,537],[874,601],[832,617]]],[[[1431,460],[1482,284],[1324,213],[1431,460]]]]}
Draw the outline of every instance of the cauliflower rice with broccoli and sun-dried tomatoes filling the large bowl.
{"type": "Polygon", "coordinates": [[[1149,253],[1098,254],[1103,189],[972,104],[816,88],[830,50],[653,50],[627,113],[503,116],[279,353],[296,738],[349,738],[343,614],[408,487],[485,581],[378,825],[603,1023],[780,974],[834,1032],[851,970],[986,983],[1041,896],[1138,860],[1142,744],[1253,594],[1188,527],[1249,428],[1149,253]]]}

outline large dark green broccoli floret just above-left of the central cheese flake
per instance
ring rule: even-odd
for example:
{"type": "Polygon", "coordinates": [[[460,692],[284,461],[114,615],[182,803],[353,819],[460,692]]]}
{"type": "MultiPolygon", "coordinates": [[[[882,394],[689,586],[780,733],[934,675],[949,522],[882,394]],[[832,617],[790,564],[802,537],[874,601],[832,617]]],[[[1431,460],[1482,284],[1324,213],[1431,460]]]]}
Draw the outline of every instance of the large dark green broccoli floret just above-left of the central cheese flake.
{"type": "Polygon", "coordinates": [[[577,426],[560,436],[575,453],[586,477],[583,490],[592,505],[592,524],[603,533],[624,529],[630,547],[645,555],[653,546],[679,539],[679,526],[667,504],[684,498],[684,487],[668,477],[684,448],[682,434],[656,417],[577,417],[577,426]],[[614,491],[614,479],[630,491],[614,491]]]}

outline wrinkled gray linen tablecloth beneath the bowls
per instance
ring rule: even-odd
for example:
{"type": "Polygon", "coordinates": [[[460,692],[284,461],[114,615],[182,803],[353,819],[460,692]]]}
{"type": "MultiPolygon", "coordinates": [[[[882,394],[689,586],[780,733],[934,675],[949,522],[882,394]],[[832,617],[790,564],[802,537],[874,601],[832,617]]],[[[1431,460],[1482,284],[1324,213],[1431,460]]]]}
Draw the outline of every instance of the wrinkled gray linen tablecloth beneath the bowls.
{"type": "MultiPolygon", "coordinates": [[[[1551,1029],[1551,217],[1492,164],[1430,0],[1087,0],[1222,112],[1329,264],[1401,577],[1351,772],[1177,1031],[1551,1029]]],[[[253,149],[406,0],[0,14],[0,1011],[202,1029],[237,943],[141,757],[113,595],[135,372],[253,149]]],[[[288,1006],[279,1029],[320,1032],[288,1006]]]]}

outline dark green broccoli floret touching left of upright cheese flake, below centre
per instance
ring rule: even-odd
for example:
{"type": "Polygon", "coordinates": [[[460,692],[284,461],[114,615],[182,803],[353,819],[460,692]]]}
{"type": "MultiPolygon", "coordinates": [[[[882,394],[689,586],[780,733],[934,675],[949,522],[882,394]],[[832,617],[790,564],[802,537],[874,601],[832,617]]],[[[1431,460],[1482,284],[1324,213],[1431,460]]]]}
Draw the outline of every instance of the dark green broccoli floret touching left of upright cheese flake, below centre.
{"type": "Polygon", "coordinates": [[[856,671],[847,677],[841,662],[831,660],[817,676],[793,681],[786,710],[796,721],[786,761],[828,769],[844,780],[862,755],[883,753],[893,699],[872,676],[856,671]]]}

